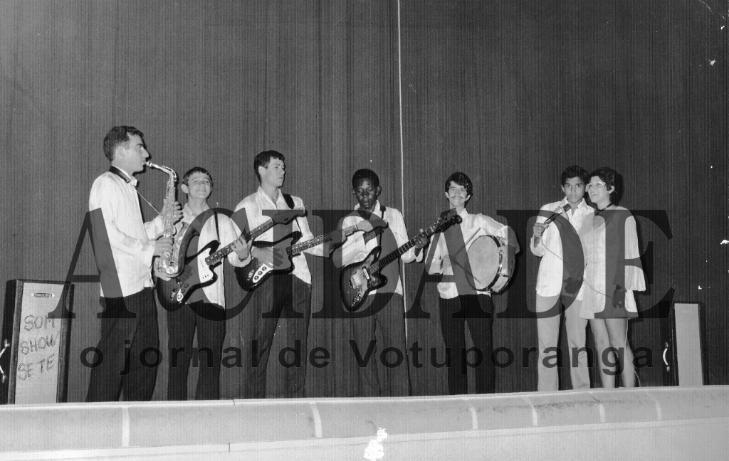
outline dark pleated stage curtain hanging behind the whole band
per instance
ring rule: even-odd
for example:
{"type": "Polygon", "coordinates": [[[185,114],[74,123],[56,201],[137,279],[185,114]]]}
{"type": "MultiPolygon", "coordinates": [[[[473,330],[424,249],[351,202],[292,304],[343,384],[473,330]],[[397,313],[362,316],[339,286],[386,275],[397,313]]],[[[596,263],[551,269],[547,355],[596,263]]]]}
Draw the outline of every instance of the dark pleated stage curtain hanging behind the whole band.
{"type": "MultiPolygon", "coordinates": [[[[474,181],[472,212],[506,222],[509,210],[558,200],[567,165],[609,165],[625,178],[622,205],[665,210],[671,226],[668,240],[639,218],[654,261],[640,308],[668,288],[677,301],[702,302],[709,384],[727,384],[727,5],[401,0],[399,11],[398,49],[397,1],[0,4],[0,280],[66,277],[90,184],[108,168],[101,141],[113,125],[139,127],[153,162],[210,170],[211,204],[230,209],[256,189],[252,159],[263,149],[286,155],[285,192],[310,211],[351,208],[351,173],[373,168],[381,201],[403,210],[411,234],[445,208],[443,181],[454,170],[474,181]]],[[[138,177],[161,206],[166,177],[138,177]]],[[[330,230],[312,215],[315,235],[330,230]]],[[[515,228],[523,280],[496,296],[495,345],[516,352],[497,373],[499,392],[536,388],[535,355],[521,363],[522,348],[537,344],[534,320],[507,309],[507,296],[534,303],[530,229],[531,221],[515,228]]],[[[323,288],[336,274],[328,261],[307,258],[316,312],[336,302],[323,288]]],[[[408,342],[442,356],[434,284],[418,296],[423,267],[405,271],[407,307],[419,299],[430,315],[408,320],[408,342]]],[[[75,273],[95,274],[87,237],[75,273]]],[[[230,270],[227,280],[228,302],[237,304],[230,270]]],[[[85,396],[79,354],[98,341],[97,310],[98,286],[78,283],[72,401],[85,396]]],[[[319,317],[309,349],[324,347],[332,360],[309,368],[307,393],[354,395],[348,323],[319,317]]],[[[164,311],[159,318],[164,350],[164,311]]],[[[242,321],[228,324],[226,347],[242,321]]],[[[634,347],[653,349],[653,367],[639,371],[643,385],[660,385],[657,332],[658,320],[631,323],[634,347]]],[[[411,369],[416,395],[445,392],[444,370],[428,361],[411,369]]],[[[280,371],[270,370],[270,395],[280,371]]],[[[157,383],[155,398],[164,398],[164,364],[157,383]]],[[[235,369],[224,369],[222,396],[239,386],[235,369]]]]}

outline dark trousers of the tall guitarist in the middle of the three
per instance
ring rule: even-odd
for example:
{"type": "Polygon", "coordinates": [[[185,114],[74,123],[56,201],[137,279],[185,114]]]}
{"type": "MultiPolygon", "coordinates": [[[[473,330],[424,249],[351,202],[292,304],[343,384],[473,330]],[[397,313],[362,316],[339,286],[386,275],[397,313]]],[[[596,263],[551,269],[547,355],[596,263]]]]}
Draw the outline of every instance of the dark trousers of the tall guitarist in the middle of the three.
{"type": "MultiPolygon", "coordinates": [[[[246,311],[247,321],[243,326],[241,348],[243,398],[266,396],[266,370],[279,318],[286,323],[288,332],[284,347],[301,351],[300,366],[287,367],[282,371],[282,396],[303,397],[308,360],[306,342],[311,317],[311,285],[293,275],[272,275],[253,291],[246,311]]],[[[278,353],[274,351],[274,360],[278,360],[278,353]]]]}

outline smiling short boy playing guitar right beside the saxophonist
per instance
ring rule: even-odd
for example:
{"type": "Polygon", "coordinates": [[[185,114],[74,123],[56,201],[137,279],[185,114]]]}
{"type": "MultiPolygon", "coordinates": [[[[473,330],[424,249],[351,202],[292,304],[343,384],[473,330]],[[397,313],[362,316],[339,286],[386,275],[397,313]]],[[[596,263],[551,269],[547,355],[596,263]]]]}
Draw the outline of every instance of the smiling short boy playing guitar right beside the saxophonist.
{"type": "MultiPolygon", "coordinates": [[[[199,248],[217,240],[222,245],[230,245],[232,251],[227,260],[233,266],[242,267],[250,261],[249,246],[246,240],[236,238],[233,220],[221,213],[211,213],[208,197],[213,189],[213,179],[207,170],[195,167],[184,173],[182,192],[187,194],[187,203],[182,208],[182,222],[188,225],[200,215],[208,212],[210,217],[190,239],[187,245],[188,256],[193,256],[199,248]],[[192,253],[192,254],[191,254],[192,253]]],[[[205,264],[192,261],[192,264],[205,264]]],[[[187,305],[172,306],[167,313],[168,350],[170,369],[168,374],[167,399],[187,400],[187,374],[192,358],[192,337],[198,329],[198,353],[207,352],[205,365],[200,366],[197,400],[217,400],[219,398],[220,360],[223,339],[225,339],[225,287],[223,267],[214,267],[214,282],[203,288],[192,289],[187,305]],[[189,309],[188,309],[189,307],[189,309]],[[208,352],[209,351],[209,352],[208,352]]],[[[168,285],[159,281],[159,286],[168,285]]],[[[160,302],[170,306],[170,292],[161,289],[157,292],[160,302]],[[166,298],[166,299],[165,299],[166,298]]]]}

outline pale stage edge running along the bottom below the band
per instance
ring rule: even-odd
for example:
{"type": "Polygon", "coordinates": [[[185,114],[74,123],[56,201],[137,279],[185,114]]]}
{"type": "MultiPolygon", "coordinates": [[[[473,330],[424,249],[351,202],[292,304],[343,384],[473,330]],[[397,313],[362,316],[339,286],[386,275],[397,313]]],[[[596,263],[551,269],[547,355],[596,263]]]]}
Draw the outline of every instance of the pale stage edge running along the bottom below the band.
{"type": "Polygon", "coordinates": [[[717,460],[729,386],[9,405],[0,427],[0,460],[717,460]]]}

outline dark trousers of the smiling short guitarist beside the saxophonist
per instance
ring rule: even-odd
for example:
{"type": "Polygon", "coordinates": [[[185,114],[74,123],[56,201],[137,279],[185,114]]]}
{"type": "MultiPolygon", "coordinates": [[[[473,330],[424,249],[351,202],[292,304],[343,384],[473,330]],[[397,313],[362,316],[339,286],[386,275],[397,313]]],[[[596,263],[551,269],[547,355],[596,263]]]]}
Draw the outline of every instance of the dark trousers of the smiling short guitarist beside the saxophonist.
{"type": "Polygon", "coordinates": [[[185,304],[167,313],[170,369],[167,400],[187,400],[187,375],[190,360],[200,365],[196,400],[220,397],[220,359],[225,339],[225,309],[203,301],[185,304]],[[192,338],[198,328],[198,348],[192,350],[192,338]],[[193,354],[194,352],[194,354],[193,354]]]}

